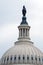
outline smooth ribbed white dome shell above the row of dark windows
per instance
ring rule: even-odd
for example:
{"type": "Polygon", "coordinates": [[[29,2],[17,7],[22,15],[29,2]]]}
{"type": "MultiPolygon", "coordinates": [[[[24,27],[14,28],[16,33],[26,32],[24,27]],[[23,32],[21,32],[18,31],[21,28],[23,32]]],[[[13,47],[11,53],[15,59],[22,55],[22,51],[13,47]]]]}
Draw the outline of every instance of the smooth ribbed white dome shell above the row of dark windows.
{"type": "Polygon", "coordinates": [[[32,44],[28,45],[15,45],[14,47],[10,48],[3,57],[8,57],[12,55],[36,55],[36,56],[42,56],[42,52],[33,46],[32,44]]]}

